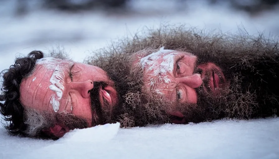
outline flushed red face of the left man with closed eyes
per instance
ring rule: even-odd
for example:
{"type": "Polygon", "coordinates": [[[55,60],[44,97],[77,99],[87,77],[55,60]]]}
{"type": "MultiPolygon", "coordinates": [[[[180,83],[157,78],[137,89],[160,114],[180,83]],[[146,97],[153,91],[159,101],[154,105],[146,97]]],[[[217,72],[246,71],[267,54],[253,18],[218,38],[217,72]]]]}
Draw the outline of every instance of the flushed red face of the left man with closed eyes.
{"type": "Polygon", "coordinates": [[[39,59],[32,74],[21,82],[20,101],[25,107],[38,111],[65,111],[85,119],[90,127],[92,121],[94,123],[92,119],[97,118],[89,93],[96,81],[105,82],[107,86],[100,88],[99,96],[93,98],[99,98],[102,107],[114,106],[117,93],[104,70],[69,60],[39,59]]]}

